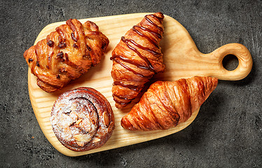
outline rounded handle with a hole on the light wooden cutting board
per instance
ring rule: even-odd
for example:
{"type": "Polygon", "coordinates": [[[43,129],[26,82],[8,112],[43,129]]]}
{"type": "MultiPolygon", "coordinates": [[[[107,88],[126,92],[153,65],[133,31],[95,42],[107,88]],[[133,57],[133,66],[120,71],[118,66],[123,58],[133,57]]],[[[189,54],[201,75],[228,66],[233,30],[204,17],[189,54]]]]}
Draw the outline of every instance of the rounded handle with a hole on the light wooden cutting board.
{"type": "Polygon", "coordinates": [[[249,74],[253,64],[249,50],[240,43],[223,45],[213,52],[205,54],[205,57],[209,59],[210,76],[221,80],[241,80],[249,74]],[[238,66],[233,71],[228,71],[223,67],[222,61],[226,55],[235,55],[238,59],[238,66]]]}

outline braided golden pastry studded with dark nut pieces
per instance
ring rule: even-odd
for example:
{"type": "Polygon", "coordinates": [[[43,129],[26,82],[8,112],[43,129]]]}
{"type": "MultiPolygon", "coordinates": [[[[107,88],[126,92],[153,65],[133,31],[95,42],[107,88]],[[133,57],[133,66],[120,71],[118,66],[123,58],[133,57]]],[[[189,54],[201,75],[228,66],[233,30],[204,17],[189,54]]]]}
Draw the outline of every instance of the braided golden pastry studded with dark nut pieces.
{"type": "Polygon", "coordinates": [[[109,44],[94,22],[66,23],[24,53],[37,85],[46,92],[60,90],[97,65],[109,44]]]}

